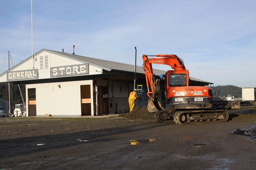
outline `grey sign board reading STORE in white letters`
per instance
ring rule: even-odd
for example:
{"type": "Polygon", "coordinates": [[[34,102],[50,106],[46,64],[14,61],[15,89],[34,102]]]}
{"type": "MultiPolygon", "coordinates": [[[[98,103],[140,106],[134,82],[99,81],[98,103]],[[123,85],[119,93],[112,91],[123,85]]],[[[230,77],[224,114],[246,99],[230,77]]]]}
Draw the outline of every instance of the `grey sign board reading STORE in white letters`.
{"type": "Polygon", "coordinates": [[[89,64],[51,67],[51,77],[81,76],[89,74],[89,64]]]}

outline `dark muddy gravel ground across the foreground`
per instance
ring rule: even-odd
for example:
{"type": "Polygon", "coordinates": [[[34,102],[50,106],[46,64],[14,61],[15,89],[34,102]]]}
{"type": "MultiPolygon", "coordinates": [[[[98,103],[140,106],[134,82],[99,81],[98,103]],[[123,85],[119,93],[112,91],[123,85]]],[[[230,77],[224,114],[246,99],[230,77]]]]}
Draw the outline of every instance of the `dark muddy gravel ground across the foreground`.
{"type": "Polygon", "coordinates": [[[2,118],[0,169],[254,170],[256,142],[231,133],[256,126],[256,105],[229,112],[228,122],[199,125],[152,115],[2,118]]]}

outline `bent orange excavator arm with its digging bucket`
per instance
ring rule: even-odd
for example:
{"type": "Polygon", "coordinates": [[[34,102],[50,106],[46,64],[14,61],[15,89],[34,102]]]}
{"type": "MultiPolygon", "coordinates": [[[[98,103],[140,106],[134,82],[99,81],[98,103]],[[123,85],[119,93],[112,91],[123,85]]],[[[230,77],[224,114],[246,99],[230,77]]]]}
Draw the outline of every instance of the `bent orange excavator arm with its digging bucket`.
{"type": "Polygon", "coordinates": [[[148,87],[148,111],[156,112],[165,110],[160,104],[158,98],[160,94],[160,79],[155,79],[152,64],[169,65],[174,70],[186,70],[183,60],[176,55],[145,55],[143,54],[143,68],[145,71],[145,78],[148,87]],[[161,58],[148,58],[161,57],[161,58]]]}

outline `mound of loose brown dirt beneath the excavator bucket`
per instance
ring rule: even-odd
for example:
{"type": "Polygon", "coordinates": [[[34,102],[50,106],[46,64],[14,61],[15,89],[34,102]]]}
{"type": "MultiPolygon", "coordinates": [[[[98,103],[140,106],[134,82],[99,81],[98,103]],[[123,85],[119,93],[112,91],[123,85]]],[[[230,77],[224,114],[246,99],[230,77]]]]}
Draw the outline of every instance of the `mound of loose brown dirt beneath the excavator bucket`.
{"type": "Polygon", "coordinates": [[[133,111],[125,115],[127,119],[154,119],[154,113],[148,112],[146,107],[136,107],[133,111]]]}

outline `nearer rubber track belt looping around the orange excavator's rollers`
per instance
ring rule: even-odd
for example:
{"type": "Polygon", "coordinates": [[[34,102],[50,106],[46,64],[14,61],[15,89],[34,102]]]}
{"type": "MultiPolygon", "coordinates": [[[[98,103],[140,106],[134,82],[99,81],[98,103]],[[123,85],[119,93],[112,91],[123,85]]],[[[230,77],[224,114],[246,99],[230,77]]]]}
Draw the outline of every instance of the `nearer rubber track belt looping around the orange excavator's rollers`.
{"type": "Polygon", "coordinates": [[[210,110],[210,111],[178,111],[178,112],[176,112],[175,114],[174,114],[174,116],[173,116],[173,120],[174,120],[174,122],[176,123],[176,124],[179,124],[179,125],[189,125],[189,124],[207,124],[207,123],[219,123],[219,122],[227,122],[227,120],[229,119],[229,113],[227,112],[227,111],[225,111],[225,110],[210,110]],[[207,113],[216,113],[216,112],[218,112],[218,113],[225,113],[225,119],[219,119],[219,120],[210,120],[210,121],[206,121],[206,120],[204,120],[204,121],[191,121],[191,122],[181,122],[180,121],[180,116],[182,115],[182,114],[187,114],[187,113],[189,113],[189,114],[198,114],[198,113],[201,113],[201,112],[203,112],[203,113],[205,113],[205,114],[207,114],[207,113]]]}

